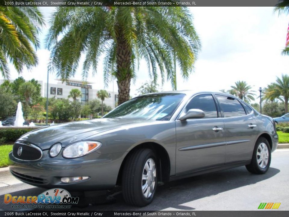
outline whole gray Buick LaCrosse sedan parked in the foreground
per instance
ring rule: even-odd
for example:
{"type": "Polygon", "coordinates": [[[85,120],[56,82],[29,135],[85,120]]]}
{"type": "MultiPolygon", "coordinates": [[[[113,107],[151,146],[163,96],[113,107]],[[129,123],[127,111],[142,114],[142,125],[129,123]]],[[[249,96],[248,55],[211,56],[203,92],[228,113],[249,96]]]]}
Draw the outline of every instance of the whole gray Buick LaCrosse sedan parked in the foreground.
{"type": "Polygon", "coordinates": [[[44,188],[122,186],[135,206],[152,202],[157,182],[246,166],[269,169],[275,122],[225,93],[172,91],[135,97],[103,118],[31,131],[9,154],[10,171],[44,188]]]}

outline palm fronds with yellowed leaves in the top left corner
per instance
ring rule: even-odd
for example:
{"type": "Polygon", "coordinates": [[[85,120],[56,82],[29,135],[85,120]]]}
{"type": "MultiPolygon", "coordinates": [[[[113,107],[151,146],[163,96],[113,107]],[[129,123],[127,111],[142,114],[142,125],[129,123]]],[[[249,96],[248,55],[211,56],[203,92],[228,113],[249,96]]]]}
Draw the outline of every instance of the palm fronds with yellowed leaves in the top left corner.
{"type": "Polygon", "coordinates": [[[36,66],[33,46],[40,47],[38,33],[44,20],[38,7],[0,7],[0,71],[9,79],[9,61],[20,74],[36,66]]]}

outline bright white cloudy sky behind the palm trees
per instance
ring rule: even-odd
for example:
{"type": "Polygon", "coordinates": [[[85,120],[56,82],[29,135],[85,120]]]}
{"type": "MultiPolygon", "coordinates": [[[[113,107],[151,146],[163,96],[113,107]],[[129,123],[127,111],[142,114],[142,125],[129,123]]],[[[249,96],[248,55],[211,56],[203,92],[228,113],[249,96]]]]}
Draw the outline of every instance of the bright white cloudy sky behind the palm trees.
{"type": "MultiPolygon", "coordinates": [[[[40,7],[45,20],[50,18],[53,7],[40,7]]],[[[202,49],[195,62],[194,72],[188,80],[183,80],[177,67],[177,90],[219,91],[229,90],[238,80],[246,81],[259,96],[259,87],[266,87],[276,80],[276,76],[287,74],[289,56],[282,56],[285,46],[288,15],[278,15],[272,7],[190,7],[194,27],[200,36],[202,49]]],[[[49,51],[44,47],[48,24],[39,39],[41,49],[37,50],[39,64],[31,71],[24,70],[24,79],[47,79],[49,51]]],[[[94,82],[94,89],[104,89],[102,57],[97,74],[88,81],[94,82]]],[[[18,73],[11,65],[11,79],[18,73]]],[[[131,96],[138,95],[137,89],[149,81],[145,61],[140,62],[135,83],[131,84],[131,96]]],[[[57,83],[55,74],[49,75],[49,83],[57,83]]],[[[79,73],[74,79],[81,80],[79,73]]],[[[161,84],[161,81],[158,82],[161,84]]],[[[117,92],[117,84],[109,83],[105,90],[117,92]]],[[[160,90],[172,90],[170,82],[160,85],[160,90]]],[[[258,99],[256,99],[258,102],[258,99]]]]}

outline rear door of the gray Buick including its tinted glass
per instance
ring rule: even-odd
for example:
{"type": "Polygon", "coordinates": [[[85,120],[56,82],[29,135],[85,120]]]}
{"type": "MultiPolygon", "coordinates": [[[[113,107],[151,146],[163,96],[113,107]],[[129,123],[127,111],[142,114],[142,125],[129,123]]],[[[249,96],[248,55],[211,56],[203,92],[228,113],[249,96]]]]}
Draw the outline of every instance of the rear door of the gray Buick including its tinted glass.
{"type": "Polygon", "coordinates": [[[225,163],[241,162],[252,158],[258,127],[253,116],[236,98],[215,94],[225,124],[225,163]],[[247,113],[246,113],[247,112],[247,113]]]}

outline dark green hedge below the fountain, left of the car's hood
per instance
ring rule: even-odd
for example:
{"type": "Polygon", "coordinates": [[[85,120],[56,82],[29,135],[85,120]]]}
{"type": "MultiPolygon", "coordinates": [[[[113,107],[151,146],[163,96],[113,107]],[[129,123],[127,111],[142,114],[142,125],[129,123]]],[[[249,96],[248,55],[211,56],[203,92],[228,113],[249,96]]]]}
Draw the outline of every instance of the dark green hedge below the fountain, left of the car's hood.
{"type": "Polygon", "coordinates": [[[15,142],[20,136],[37,128],[0,128],[0,143],[15,142]]]}

